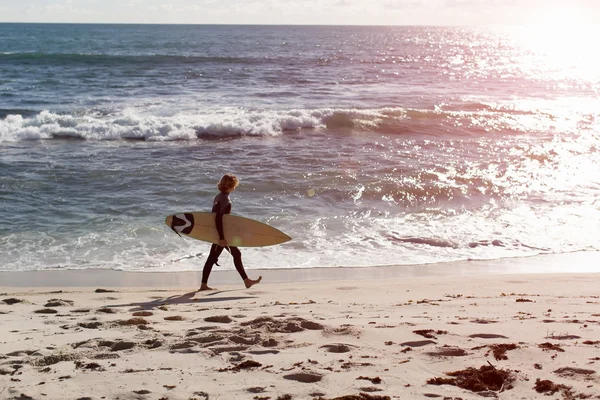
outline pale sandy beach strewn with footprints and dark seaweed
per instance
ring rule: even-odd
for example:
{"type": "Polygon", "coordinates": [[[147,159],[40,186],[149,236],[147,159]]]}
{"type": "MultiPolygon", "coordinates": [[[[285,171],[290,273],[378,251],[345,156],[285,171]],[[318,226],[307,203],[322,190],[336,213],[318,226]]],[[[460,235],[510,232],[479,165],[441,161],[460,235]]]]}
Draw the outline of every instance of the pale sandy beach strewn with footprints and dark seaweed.
{"type": "Polygon", "coordinates": [[[263,271],[251,289],[217,271],[209,292],[185,274],[0,273],[0,398],[600,398],[600,273],[565,273],[577,257],[263,271]]]}

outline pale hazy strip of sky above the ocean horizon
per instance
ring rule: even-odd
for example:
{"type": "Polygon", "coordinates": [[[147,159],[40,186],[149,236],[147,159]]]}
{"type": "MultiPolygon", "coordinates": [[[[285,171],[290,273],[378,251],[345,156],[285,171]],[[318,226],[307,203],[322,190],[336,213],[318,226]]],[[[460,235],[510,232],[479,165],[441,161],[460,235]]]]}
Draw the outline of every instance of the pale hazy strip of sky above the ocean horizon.
{"type": "Polygon", "coordinates": [[[600,24],[600,0],[0,0],[0,22],[600,24]]]}

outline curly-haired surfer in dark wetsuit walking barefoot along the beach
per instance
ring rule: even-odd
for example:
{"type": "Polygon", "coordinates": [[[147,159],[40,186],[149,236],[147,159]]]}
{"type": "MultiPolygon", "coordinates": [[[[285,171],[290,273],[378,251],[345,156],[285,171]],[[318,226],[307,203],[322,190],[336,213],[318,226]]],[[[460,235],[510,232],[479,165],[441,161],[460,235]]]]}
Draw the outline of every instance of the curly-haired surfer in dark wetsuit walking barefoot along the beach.
{"type": "Polygon", "coordinates": [[[210,271],[212,271],[213,265],[217,264],[219,256],[224,248],[227,248],[229,253],[231,253],[233,256],[233,264],[235,265],[235,269],[237,269],[240,276],[244,280],[246,288],[256,285],[262,279],[262,276],[259,276],[256,280],[248,278],[248,275],[244,270],[244,264],[242,264],[242,252],[237,247],[228,246],[227,240],[225,240],[225,235],[223,234],[223,215],[231,213],[231,201],[229,200],[229,193],[233,192],[239,183],[240,181],[235,175],[225,174],[217,184],[217,187],[219,188],[219,194],[215,196],[213,201],[212,212],[216,213],[215,225],[217,226],[217,232],[219,232],[219,244],[213,244],[210,248],[208,259],[206,260],[204,269],[202,270],[202,285],[200,286],[200,290],[212,290],[212,288],[208,287],[208,276],[210,275],[210,271]]]}

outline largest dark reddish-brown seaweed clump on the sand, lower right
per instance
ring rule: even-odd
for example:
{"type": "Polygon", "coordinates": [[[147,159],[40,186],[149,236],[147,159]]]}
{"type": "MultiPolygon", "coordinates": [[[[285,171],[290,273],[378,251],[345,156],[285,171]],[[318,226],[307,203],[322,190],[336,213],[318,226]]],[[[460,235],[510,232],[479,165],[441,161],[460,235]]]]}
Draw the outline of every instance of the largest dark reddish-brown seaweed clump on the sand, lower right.
{"type": "Polygon", "coordinates": [[[503,391],[512,389],[514,374],[510,370],[496,369],[484,365],[479,369],[469,367],[464,370],[447,372],[452,378],[431,378],[429,385],[453,385],[472,392],[503,391]]]}

